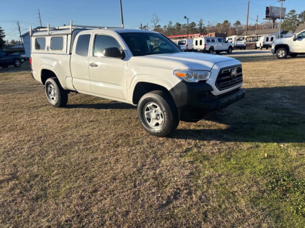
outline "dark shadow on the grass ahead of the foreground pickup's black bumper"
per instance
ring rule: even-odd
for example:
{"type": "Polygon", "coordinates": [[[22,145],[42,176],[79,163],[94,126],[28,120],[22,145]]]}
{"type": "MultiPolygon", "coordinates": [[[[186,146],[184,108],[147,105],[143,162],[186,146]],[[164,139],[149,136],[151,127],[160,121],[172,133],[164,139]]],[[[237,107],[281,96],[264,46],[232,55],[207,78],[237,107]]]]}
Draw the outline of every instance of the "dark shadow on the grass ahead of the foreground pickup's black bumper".
{"type": "Polygon", "coordinates": [[[228,142],[305,142],[305,86],[246,89],[246,97],[170,137],[228,142]],[[201,125],[202,124],[202,125],[201,125]],[[202,129],[200,127],[202,126],[202,129]],[[217,125],[217,124],[216,124],[217,125]],[[216,126],[217,127],[217,126],[216,126]]]}

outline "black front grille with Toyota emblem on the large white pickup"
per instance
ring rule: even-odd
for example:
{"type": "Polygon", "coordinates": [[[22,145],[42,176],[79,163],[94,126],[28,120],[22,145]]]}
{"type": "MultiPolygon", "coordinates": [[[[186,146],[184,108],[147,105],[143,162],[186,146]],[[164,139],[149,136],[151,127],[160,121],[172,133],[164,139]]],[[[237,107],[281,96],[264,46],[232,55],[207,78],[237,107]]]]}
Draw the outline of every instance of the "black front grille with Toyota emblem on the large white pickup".
{"type": "Polygon", "coordinates": [[[217,76],[216,87],[219,90],[225,90],[242,83],[241,65],[222,68],[217,76]],[[232,75],[232,70],[236,70],[236,76],[232,75]]]}

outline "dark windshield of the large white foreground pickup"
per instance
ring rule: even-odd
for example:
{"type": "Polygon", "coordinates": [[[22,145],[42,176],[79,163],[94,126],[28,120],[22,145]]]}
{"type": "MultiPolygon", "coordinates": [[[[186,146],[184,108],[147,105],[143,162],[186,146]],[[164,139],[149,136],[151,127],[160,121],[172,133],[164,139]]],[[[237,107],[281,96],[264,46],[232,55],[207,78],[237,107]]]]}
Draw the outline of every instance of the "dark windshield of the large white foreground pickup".
{"type": "Polygon", "coordinates": [[[120,35],[134,56],[181,52],[173,42],[160,33],[122,32],[120,35]]]}

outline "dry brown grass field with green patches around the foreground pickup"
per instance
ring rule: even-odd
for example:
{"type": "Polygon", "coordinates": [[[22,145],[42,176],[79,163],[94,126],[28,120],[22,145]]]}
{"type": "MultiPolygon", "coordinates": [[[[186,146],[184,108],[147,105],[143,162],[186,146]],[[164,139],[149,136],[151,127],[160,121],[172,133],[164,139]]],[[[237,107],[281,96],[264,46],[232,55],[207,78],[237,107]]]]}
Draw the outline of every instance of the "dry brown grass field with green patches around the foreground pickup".
{"type": "Polygon", "coordinates": [[[170,137],[134,106],[53,108],[0,68],[1,227],[304,227],[305,57],[235,52],[246,97],[170,137]]]}

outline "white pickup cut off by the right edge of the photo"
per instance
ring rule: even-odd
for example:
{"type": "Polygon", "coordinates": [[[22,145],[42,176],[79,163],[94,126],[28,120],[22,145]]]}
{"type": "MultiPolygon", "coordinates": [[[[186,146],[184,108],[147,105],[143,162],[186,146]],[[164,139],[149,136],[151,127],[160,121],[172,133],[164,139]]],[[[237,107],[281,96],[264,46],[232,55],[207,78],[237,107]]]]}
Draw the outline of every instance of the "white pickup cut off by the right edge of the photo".
{"type": "Polygon", "coordinates": [[[292,37],[276,39],[272,43],[271,53],[278,59],[285,59],[288,55],[295,57],[298,54],[305,54],[305,30],[292,37]]]}

